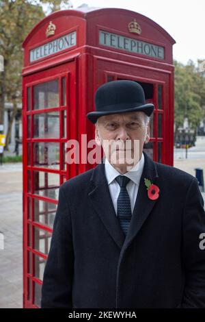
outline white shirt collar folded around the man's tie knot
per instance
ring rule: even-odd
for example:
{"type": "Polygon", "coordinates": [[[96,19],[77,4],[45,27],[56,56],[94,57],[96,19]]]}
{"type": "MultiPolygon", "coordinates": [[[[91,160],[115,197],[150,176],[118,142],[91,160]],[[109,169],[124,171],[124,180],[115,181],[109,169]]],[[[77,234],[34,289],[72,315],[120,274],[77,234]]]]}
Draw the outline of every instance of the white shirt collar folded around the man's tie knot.
{"type": "MultiPolygon", "coordinates": [[[[138,186],[139,186],[139,181],[140,181],[141,174],[143,171],[143,165],[144,165],[144,156],[143,156],[143,153],[141,153],[141,159],[139,160],[139,162],[137,164],[135,164],[135,166],[132,168],[131,171],[124,173],[124,175],[126,175],[126,177],[131,179],[135,184],[138,184],[138,186]]],[[[111,182],[113,182],[115,177],[118,177],[118,175],[122,175],[122,173],[117,171],[109,163],[107,158],[105,158],[105,175],[107,178],[107,183],[111,184],[111,182]]]]}

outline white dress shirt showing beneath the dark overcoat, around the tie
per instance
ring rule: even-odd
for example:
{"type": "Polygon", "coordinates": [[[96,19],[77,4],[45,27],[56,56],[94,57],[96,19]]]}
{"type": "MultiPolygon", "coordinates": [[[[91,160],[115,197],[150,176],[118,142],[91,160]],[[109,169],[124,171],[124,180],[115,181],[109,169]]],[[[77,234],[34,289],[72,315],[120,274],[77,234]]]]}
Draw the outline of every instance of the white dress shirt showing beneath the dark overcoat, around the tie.
{"type": "MultiPolygon", "coordinates": [[[[128,171],[124,173],[126,177],[130,179],[128,184],[126,185],[126,190],[131,200],[131,211],[133,213],[133,209],[135,206],[135,201],[137,199],[137,193],[139,189],[139,182],[141,179],[141,174],[143,171],[143,164],[144,164],[144,156],[143,153],[141,154],[141,159],[135,166],[133,167],[132,171],[128,171]]],[[[117,215],[117,201],[118,195],[120,193],[120,185],[116,182],[115,177],[118,175],[122,175],[122,173],[118,172],[105,158],[105,175],[107,178],[107,183],[109,186],[109,192],[111,195],[111,199],[113,201],[113,206],[115,208],[115,213],[117,215]]]]}

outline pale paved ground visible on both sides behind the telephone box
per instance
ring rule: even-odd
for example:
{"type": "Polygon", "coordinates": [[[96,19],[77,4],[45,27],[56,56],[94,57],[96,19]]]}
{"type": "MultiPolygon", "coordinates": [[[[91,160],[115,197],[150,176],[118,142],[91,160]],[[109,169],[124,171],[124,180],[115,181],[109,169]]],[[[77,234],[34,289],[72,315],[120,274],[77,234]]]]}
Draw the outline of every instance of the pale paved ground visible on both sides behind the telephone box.
{"type": "MultiPolygon", "coordinates": [[[[195,175],[196,167],[205,173],[205,137],[197,138],[187,159],[184,149],[175,149],[174,166],[191,175],[195,175]]],[[[4,250],[0,249],[0,308],[23,307],[22,176],[20,162],[0,166],[0,232],[4,234],[4,250]]],[[[205,193],[202,195],[205,200],[205,193]]]]}

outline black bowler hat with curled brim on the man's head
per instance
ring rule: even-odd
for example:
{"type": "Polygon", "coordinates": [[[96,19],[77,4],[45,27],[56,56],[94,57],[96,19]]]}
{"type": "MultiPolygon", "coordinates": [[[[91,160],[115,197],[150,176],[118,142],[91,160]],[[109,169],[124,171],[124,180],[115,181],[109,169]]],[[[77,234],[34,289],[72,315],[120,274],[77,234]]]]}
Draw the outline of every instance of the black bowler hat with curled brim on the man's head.
{"type": "Polygon", "coordinates": [[[96,90],[94,112],[87,118],[96,123],[98,117],[124,112],[144,112],[150,116],[154,110],[152,103],[146,104],[143,88],[131,80],[117,80],[103,84],[96,90]]]}

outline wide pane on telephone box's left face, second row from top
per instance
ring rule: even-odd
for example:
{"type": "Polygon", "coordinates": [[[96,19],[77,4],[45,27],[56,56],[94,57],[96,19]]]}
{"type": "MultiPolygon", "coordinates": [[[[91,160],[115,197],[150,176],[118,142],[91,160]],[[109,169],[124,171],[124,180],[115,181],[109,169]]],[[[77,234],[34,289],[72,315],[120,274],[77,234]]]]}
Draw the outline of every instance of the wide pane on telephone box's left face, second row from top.
{"type": "Polygon", "coordinates": [[[34,138],[59,138],[59,112],[33,115],[34,138]]]}

